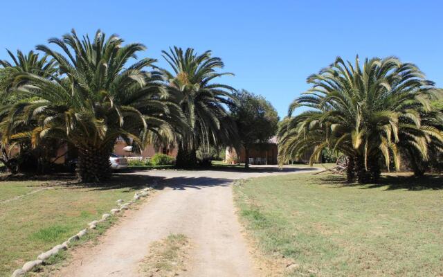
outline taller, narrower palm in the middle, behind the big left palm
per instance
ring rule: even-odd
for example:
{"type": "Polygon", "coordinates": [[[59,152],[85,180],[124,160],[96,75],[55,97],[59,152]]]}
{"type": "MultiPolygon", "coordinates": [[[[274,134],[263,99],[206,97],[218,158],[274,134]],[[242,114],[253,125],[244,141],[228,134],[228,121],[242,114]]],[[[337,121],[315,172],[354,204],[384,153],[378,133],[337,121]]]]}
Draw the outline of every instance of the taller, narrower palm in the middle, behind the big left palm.
{"type": "Polygon", "coordinates": [[[224,63],[212,57],[210,51],[201,55],[194,49],[174,46],[170,52],[162,51],[172,72],[161,69],[170,91],[188,119],[191,132],[179,138],[176,165],[193,167],[197,163],[196,150],[208,145],[233,145],[237,141],[235,123],[228,115],[225,105],[233,100],[233,87],[213,82],[215,78],[232,73],[218,73],[224,63]]]}

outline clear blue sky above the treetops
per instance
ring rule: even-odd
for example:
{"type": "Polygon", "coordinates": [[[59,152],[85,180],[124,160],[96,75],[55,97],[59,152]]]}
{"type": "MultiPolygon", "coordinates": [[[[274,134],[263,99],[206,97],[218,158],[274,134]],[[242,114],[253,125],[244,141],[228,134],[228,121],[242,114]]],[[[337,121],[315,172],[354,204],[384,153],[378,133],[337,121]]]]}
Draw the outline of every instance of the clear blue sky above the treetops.
{"type": "Polygon", "coordinates": [[[0,59],[75,28],[100,28],[142,42],[161,60],[169,46],[213,50],[235,77],[280,116],[308,88],[306,78],[337,55],[396,55],[443,86],[443,1],[3,1],[0,59]],[[240,3],[241,2],[241,3],[240,3]]]}

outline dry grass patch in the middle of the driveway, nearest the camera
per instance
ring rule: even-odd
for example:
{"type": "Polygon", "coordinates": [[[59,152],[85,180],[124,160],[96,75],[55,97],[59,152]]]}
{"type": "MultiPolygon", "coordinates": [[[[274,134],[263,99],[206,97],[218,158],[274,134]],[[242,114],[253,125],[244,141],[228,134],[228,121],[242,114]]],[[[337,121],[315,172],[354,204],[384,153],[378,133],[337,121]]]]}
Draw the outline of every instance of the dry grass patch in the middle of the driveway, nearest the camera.
{"type": "Polygon", "coordinates": [[[180,276],[186,271],[190,242],[186,235],[170,234],[150,245],[150,253],[141,262],[140,272],[147,277],[180,276]]]}

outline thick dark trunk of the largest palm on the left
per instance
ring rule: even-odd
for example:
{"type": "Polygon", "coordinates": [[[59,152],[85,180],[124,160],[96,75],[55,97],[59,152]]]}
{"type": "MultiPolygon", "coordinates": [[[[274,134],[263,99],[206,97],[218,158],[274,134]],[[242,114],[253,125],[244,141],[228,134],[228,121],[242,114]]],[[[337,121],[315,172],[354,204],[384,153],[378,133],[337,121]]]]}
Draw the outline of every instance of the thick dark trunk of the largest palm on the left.
{"type": "Polygon", "coordinates": [[[82,183],[100,182],[112,175],[108,147],[78,145],[77,175],[82,183]]]}

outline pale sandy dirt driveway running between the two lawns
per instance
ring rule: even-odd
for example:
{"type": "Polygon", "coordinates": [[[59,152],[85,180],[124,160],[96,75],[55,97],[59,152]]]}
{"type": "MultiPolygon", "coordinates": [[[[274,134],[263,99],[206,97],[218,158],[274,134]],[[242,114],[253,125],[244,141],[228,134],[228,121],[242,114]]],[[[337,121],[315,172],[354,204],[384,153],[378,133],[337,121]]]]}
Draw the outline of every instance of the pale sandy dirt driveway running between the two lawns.
{"type": "Polygon", "coordinates": [[[183,276],[260,276],[235,215],[230,184],[235,179],[307,170],[261,167],[254,172],[150,170],[133,173],[162,177],[165,188],[138,210],[128,211],[96,246],[75,249],[70,264],[54,276],[138,276],[138,263],[149,253],[149,245],[170,233],[183,233],[193,244],[188,271],[183,276]]]}

